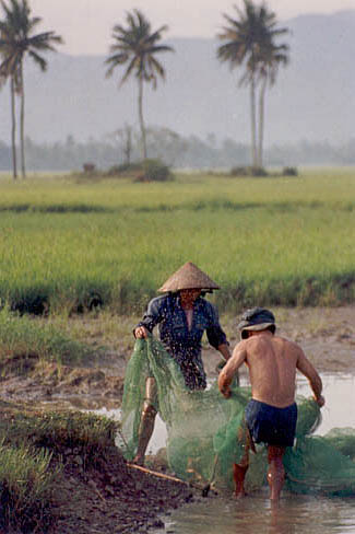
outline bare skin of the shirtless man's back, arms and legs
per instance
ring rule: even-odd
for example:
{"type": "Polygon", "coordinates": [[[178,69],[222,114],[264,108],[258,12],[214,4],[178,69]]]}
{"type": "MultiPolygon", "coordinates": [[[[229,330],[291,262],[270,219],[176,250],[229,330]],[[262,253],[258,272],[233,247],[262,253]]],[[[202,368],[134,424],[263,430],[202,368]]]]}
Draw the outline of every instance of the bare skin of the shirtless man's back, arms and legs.
{"type": "MultiPolygon", "coordinates": [[[[301,348],[295,343],[274,336],[269,329],[250,330],[248,338],[235,347],[232,358],[218,376],[220,391],[226,398],[232,394],[232,381],[242,363],[246,363],[249,369],[251,396],[255,400],[276,408],[291,406],[295,402],[298,369],[308,379],[316,403],[320,407],[324,405],[321,379],[301,348]]],[[[241,462],[233,465],[237,498],[245,496],[244,481],[249,466],[249,449],[250,444],[247,444],[241,462]]],[[[268,483],[272,501],[280,499],[283,487],[285,450],[285,446],[268,446],[268,483]]]]}

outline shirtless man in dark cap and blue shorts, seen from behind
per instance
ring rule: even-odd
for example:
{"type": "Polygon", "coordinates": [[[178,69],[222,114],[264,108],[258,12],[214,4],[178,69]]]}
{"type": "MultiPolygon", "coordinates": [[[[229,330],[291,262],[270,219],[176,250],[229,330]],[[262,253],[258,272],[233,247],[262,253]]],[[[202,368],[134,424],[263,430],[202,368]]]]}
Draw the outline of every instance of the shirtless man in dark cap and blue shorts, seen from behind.
{"type": "Polygon", "coordinates": [[[251,400],[246,407],[247,445],[239,464],[234,464],[236,496],[245,495],[244,480],[253,442],[268,445],[270,498],[279,500],[285,472],[283,455],[293,446],[297,422],[296,369],[309,381],[316,403],[324,405],[322,382],[313,365],[295,343],[275,336],[275,317],[265,309],[247,310],[238,325],[241,341],[235,347],[218,376],[221,393],[228,398],[233,378],[248,365],[251,400]]]}

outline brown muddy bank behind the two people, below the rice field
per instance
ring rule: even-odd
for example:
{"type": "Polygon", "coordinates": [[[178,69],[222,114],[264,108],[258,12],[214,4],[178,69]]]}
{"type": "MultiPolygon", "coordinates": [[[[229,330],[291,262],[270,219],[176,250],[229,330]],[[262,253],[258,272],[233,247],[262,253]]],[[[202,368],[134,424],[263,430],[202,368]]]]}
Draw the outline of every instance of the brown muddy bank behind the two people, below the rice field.
{"type": "MultiPolygon", "coordinates": [[[[279,309],[274,312],[279,334],[297,341],[319,372],[355,374],[355,306],[279,309]]],[[[115,338],[114,332],[110,339],[105,337],[97,320],[76,317],[73,320],[75,327],[79,321],[85,325],[84,339],[90,341],[94,337],[96,345],[106,341],[106,350],[100,350],[96,359],[83,362],[80,367],[43,364],[35,355],[20,356],[20,363],[14,363],[13,359],[3,361],[0,398],[83,409],[118,408],[122,398],[126,365],[134,344],[130,325],[134,324],[135,318],[122,320],[126,326],[122,335],[120,317],[117,317],[119,335],[115,338]]],[[[222,317],[221,322],[233,349],[239,339],[237,317],[222,317]]],[[[221,360],[218,352],[204,344],[203,360],[209,378],[215,378],[215,367],[221,360]]],[[[246,369],[241,369],[241,373],[246,373],[246,369]]]]}

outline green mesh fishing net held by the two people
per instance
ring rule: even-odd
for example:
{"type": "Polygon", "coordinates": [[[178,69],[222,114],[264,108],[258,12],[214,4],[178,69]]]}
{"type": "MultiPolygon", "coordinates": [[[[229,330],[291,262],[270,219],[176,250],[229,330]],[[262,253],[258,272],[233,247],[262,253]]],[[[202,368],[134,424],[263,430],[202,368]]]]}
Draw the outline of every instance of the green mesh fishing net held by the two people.
{"type": "MultiPolygon", "coordinates": [[[[120,446],[127,460],[137,452],[146,376],[157,385],[156,409],[167,427],[167,458],[181,479],[203,487],[234,488],[233,463],[240,462],[246,445],[244,410],[249,387],[233,386],[225,399],[216,382],[205,391],[186,387],[179,367],[164,346],[150,336],[138,339],[128,363],[122,402],[120,446]]],[[[312,436],[320,422],[320,409],[312,399],[299,397],[296,441],[284,457],[286,487],[295,492],[355,494],[355,430],[333,429],[326,437],[312,436]]],[[[246,489],[265,484],[267,449],[250,453],[246,489]]]]}

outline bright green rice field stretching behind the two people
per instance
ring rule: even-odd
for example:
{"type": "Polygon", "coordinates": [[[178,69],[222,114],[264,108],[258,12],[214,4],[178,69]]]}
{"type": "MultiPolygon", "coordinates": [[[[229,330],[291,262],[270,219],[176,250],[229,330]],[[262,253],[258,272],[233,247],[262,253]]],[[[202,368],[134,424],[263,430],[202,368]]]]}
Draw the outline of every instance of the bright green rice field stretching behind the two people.
{"type": "Polygon", "coordinates": [[[0,299],[19,311],[141,313],[185,262],[223,312],[355,300],[355,170],[175,182],[0,178],[0,299]]]}

